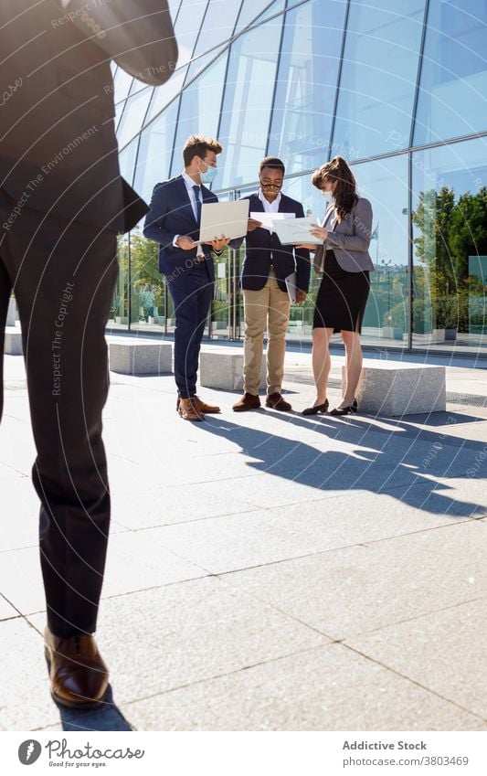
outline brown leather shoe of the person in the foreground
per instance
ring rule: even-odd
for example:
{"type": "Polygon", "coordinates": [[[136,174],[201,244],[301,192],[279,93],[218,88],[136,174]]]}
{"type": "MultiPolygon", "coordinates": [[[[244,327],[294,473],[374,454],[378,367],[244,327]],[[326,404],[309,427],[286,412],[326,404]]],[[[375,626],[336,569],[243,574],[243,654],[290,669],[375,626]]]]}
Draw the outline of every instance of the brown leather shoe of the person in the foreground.
{"type": "Polygon", "coordinates": [[[46,628],[44,642],[54,700],[70,708],[100,706],[107,692],[108,668],[93,636],[63,639],[46,628]]]}

